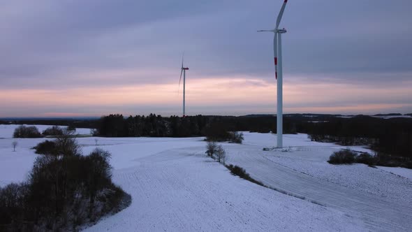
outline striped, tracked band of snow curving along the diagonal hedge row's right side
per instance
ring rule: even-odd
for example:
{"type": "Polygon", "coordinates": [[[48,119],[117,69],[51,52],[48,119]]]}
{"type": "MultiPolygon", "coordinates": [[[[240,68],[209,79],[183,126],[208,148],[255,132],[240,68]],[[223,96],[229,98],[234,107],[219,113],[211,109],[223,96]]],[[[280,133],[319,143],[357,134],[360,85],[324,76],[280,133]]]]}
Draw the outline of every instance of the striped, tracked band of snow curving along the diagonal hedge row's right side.
{"type": "MultiPolygon", "coordinates": [[[[267,156],[277,152],[256,152],[258,147],[249,149],[234,152],[230,156],[230,163],[242,166],[265,185],[360,217],[372,231],[412,231],[412,205],[400,205],[388,201],[388,197],[374,196],[323,181],[267,159],[267,156]]],[[[320,149],[311,147],[308,150],[320,149]]]]}

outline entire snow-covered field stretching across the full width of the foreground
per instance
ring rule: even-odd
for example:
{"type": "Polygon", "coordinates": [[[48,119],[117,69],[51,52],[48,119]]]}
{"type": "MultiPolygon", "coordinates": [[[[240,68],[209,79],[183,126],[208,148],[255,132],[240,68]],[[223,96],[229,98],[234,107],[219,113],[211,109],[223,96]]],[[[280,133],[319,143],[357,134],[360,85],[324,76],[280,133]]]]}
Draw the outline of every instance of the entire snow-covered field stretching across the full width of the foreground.
{"type": "MultiPolygon", "coordinates": [[[[29,148],[44,140],[18,139],[13,152],[11,127],[0,125],[0,185],[24,180],[36,157],[29,148]]],[[[203,138],[78,138],[84,154],[112,153],[113,180],[133,197],[86,231],[412,231],[411,170],[333,166],[330,154],[345,147],[303,134],[286,135],[283,151],[263,151],[276,135],[244,137],[222,143],[227,163],[304,200],[230,175],[205,157],[203,138]]]]}

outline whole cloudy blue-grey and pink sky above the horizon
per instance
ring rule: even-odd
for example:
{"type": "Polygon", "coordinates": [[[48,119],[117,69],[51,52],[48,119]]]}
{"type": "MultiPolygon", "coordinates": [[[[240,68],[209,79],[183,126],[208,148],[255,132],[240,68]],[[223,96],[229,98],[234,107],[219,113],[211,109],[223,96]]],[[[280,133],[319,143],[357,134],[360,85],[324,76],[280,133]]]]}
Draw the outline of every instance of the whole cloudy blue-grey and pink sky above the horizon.
{"type": "MultiPolygon", "coordinates": [[[[282,0],[0,1],[0,117],[276,113],[282,0]]],[[[412,1],[290,0],[285,113],[412,113],[412,1]]]]}

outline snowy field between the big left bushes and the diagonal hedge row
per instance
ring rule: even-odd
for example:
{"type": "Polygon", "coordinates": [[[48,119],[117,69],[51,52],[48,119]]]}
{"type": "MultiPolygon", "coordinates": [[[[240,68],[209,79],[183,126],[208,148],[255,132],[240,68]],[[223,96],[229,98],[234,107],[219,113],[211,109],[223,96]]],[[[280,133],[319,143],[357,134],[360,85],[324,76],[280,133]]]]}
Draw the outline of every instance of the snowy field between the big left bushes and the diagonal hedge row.
{"type": "Polygon", "coordinates": [[[342,212],[230,175],[197,148],[135,161],[139,166],[117,170],[114,178],[132,195],[132,205],[85,231],[362,230],[342,212]]]}

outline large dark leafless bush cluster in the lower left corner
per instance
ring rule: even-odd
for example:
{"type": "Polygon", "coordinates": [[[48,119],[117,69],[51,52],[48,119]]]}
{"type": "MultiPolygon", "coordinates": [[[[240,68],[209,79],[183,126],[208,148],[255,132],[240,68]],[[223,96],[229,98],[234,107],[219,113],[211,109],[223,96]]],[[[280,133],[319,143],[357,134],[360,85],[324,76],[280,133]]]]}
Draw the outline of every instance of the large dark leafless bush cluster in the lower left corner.
{"type": "Polygon", "coordinates": [[[110,153],[96,148],[83,156],[68,133],[42,144],[36,147],[54,149],[36,158],[27,182],[0,189],[0,229],[75,231],[130,204],[112,182],[110,153]]]}

